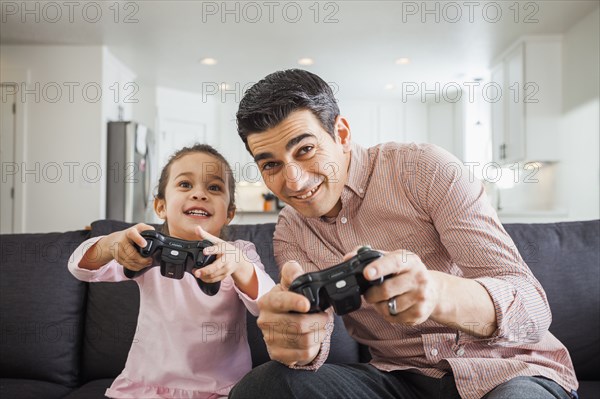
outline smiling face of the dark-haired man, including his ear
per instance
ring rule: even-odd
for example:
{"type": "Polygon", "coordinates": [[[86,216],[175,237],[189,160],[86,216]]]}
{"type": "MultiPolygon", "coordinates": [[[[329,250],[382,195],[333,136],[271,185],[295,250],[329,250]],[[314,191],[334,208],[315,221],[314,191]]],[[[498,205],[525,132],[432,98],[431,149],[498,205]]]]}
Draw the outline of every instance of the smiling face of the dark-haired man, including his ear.
{"type": "Polygon", "coordinates": [[[350,128],[338,117],[334,139],[308,110],[250,134],[248,146],[267,187],[306,217],[335,217],[348,178],[350,128]]]}

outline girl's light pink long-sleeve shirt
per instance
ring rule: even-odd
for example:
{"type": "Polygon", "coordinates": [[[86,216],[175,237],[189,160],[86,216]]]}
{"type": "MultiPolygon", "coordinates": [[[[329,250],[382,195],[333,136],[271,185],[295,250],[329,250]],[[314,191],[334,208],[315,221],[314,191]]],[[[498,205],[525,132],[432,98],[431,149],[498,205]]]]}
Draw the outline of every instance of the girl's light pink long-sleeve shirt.
{"type": "MultiPolygon", "coordinates": [[[[101,237],[82,243],[69,270],[87,282],[129,280],[111,261],[98,270],[80,268],[85,251],[101,237]]],[[[218,294],[204,294],[194,276],[163,277],[153,267],[134,280],[140,289],[137,330],[123,372],[106,391],[112,398],[215,398],[226,396],[252,368],[246,336],[246,309],[258,314],[257,300],[275,283],[264,271],[254,244],[233,242],[258,277],[258,296],[249,298],[231,276],[218,294]]]]}

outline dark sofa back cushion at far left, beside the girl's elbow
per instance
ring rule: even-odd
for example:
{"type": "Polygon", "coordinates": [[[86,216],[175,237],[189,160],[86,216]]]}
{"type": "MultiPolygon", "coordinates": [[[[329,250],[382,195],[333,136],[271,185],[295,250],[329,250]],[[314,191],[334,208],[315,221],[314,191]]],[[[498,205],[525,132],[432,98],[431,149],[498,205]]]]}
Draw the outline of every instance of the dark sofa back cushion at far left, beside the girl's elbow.
{"type": "Polygon", "coordinates": [[[2,236],[2,377],[78,384],[86,284],[69,273],[67,260],[87,236],[86,231],[2,236]]]}

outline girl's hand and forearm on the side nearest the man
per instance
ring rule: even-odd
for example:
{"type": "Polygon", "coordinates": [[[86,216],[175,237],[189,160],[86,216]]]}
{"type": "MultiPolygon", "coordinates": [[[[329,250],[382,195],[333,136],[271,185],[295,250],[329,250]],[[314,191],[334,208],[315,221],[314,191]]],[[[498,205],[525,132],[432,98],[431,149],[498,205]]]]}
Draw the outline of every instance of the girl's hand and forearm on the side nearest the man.
{"type": "Polygon", "coordinates": [[[239,248],[206,232],[202,227],[196,227],[200,239],[208,240],[214,245],[204,248],[204,255],[216,255],[217,259],[202,269],[194,269],[194,275],[207,283],[216,283],[231,275],[235,285],[251,298],[258,295],[258,279],[254,266],[246,259],[239,248]]]}

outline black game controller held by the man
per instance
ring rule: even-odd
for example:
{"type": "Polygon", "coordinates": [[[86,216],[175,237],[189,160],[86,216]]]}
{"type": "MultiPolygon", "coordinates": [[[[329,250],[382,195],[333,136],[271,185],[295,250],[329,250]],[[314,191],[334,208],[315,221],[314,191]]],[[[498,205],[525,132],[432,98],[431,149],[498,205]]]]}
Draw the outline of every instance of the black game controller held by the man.
{"type": "Polygon", "coordinates": [[[364,268],[382,256],[381,252],[370,247],[361,247],[356,256],[339,265],[296,278],[290,285],[290,291],[308,298],[308,313],[322,312],[333,305],[335,313],[345,315],[360,308],[360,296],[367,289],[383,283],[384,277],[369,281],[363,276],[364,268]]]}

